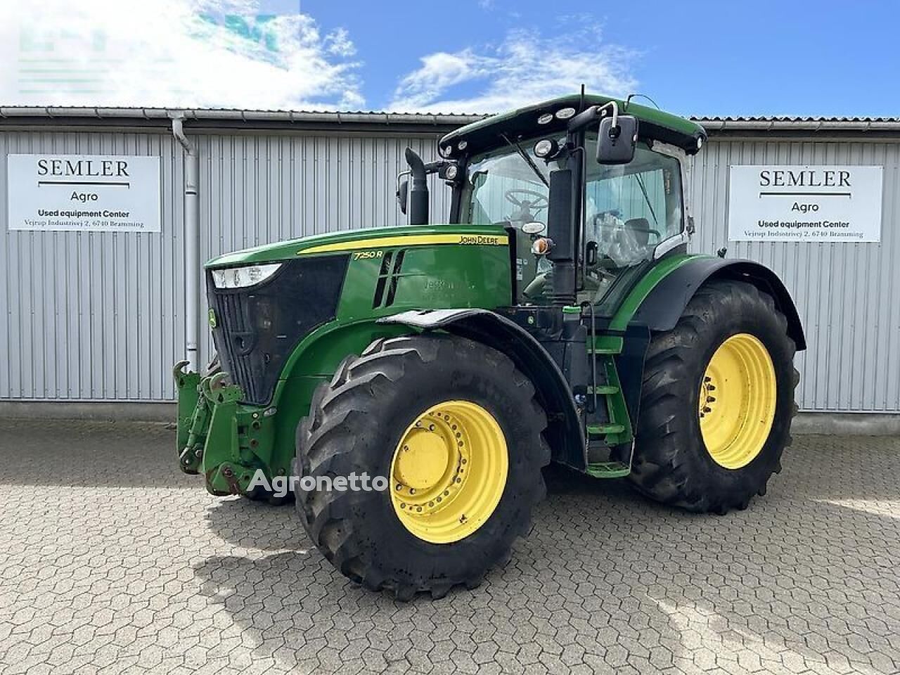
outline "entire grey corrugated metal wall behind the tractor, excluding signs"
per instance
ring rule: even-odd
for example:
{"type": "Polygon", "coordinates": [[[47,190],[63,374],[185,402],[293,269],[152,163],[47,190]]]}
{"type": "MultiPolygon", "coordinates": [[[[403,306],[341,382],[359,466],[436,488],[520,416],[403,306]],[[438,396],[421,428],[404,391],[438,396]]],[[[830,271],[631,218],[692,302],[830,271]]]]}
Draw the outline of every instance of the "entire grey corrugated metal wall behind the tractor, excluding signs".
{"type": "MultiPolygon", "coordinates": [[[[403,148],[433,159],[434,138],[288,133],[202,135],[201,255],[308,234],[399,224],[403,148]]],[[[711,139],[694,171],[694,247],[727,246],[785,280],[806,327],[797,357],[805,410],[900,411],[900,145],[711,139]],[[727,242],[730,164],[885,166],[880,244],[727,242]]],[[[184,354],[181,149],[166,133],[0,132],[0,398],[169,401],[184,354]],[[10,232],[8,153],[161,157],[162,232],[10,232]]],[[[432,182],[432,212],[449,193],[432,182]]],[[[436,219],[439,220],[439,219],[436,219]]],[[[200,275],[200,271],[196,270],[200,275]]],[[[204,331],[205,332],[205,331],[204,331]]],[[[202,359],[211,342],[202,340],[202,359]]]]}

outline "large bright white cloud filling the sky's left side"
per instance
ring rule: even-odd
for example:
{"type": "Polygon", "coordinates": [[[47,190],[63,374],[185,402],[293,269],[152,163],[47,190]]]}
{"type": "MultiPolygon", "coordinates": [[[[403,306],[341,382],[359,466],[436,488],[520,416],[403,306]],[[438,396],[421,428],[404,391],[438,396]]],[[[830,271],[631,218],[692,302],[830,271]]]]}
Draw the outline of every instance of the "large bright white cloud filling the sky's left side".
{"type": "Polygon", "coordinates": [[[258,0],[17,3],[0,23],[0,104],[357,109],[354,53],[347,31],[258,0]]]}

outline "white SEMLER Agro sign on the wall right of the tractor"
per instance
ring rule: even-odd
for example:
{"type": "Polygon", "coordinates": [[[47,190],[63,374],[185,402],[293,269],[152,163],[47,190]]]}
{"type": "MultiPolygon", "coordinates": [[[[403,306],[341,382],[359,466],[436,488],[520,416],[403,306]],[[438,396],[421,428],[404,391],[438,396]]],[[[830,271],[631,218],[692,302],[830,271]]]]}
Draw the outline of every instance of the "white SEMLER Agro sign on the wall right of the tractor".
{"type": "Polygon", "coordinates": [[[732,241],[880,241],[881,166],[731,166],[732,241]]]}

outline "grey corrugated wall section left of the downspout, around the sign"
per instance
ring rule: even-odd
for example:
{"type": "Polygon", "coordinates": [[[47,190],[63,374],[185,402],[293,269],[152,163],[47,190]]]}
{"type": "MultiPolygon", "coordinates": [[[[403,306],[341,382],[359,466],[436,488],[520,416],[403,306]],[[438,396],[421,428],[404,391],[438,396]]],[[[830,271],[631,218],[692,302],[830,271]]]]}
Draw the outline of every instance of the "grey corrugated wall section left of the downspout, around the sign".
{"type": "Polygon", "coordinates": [[[182,166],[160,134],[0,133],[0,397],[172,397],[164,365],[184,344],[182,166]],[[162,232],[9,231],[6,155],[45,152],[161,157],[162,232]]]}

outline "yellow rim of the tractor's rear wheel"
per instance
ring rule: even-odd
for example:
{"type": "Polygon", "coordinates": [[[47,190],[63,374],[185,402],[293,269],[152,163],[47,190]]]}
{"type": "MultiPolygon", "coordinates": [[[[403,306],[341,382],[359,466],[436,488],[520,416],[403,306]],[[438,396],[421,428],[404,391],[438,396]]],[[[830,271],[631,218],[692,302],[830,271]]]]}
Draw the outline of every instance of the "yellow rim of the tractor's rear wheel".
{"type": "Polygon", "coordinates": [[[716,464],[740,469],[762,451],[778,391],[769,351],[749,333],[723,342],[700,384],[700,433],[716,464]]]}

